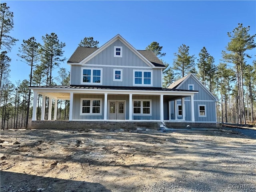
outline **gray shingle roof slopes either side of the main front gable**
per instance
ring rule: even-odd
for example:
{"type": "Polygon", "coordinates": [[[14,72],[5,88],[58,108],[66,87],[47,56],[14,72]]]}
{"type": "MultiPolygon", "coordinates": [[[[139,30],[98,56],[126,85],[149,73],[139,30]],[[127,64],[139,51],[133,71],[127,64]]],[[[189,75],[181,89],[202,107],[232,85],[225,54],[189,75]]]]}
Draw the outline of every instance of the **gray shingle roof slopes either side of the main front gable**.
{"type": "MultiPolygon", "coordinates": [[[[75,52],[69,58],[68,63],[79,63],[84,58],[88,57],[98,48],[92,47],[78,47],[76,48],[75,52]]],[[[144,56],[147,60],[149,60],[154,66],[156,67],[165,67],[164,64],[158,57],[150,50],[138,50],[142,56],[144,56]]]]}

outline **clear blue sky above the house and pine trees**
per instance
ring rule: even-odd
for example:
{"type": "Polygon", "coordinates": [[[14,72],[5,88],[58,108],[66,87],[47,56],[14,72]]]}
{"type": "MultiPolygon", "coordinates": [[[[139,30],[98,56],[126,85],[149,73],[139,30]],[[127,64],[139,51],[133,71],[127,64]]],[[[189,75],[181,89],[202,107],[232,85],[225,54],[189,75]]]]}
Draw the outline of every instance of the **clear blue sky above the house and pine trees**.
{"type": "MultiPolygon", "coordinates": [[[[232,32],[242,23],[256,34],[256,1],[1,1],[14,12],[17,38],[8,56],[12,58],[10,80],[29,78],[30,67],[19,61],[18,48],[22,40],[54,32],[66,43],[64,57],[70,58],[84,37],[94,37],[99,46],[120,34],[137,50],[151,42],[163,46],[162,59],[172,65],[174,53],[182,44],[199,58],[205,46],[217,65],[221,52],[232,32]]],[[[255,59],[255,49],[249,52],[255,59]]],[[[66,60],[66,61],[67,61],[66,60]]],[[[60,67],[70,69],[66,61],[60,67]]],[[[252,60],[248,60],[250,63],[252,60]]],[[[54,70],[57,76],[58,69],[54,70]]]]}

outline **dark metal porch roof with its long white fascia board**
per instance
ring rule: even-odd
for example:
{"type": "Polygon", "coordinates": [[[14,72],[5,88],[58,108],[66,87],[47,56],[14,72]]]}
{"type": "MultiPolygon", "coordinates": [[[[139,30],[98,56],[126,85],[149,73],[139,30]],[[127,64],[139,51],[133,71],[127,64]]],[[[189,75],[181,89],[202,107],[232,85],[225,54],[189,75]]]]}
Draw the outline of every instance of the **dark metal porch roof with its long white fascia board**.
{"type": "Polygon", "coordinates": [[[148,90],[113,90],[113,89],[80,89],[80,88],[31,88],[37,90],[38,93],[74,93],[74,94],[133,94],[133,95],[175,95],[175,96],[191,96],[198,92],[190,91],[148,91],[148,90]]]}

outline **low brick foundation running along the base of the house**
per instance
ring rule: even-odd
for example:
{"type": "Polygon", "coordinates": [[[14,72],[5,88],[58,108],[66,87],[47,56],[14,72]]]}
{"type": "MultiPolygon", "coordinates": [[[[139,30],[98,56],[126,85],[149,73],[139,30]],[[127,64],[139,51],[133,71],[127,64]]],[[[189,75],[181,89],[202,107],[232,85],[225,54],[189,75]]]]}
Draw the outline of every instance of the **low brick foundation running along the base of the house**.
{"type": "MultiPolygon", "coordinates": [[[[165,122],[167,128],[204,127],[216,128],[218,123],[190,123],[190,122],[165,122]]],[[[124,129],[136,130],[137,128],[159,129],[161,122],[111,122],[111,121],[32,121],[28,124],[29,129],[124,129]]]]}

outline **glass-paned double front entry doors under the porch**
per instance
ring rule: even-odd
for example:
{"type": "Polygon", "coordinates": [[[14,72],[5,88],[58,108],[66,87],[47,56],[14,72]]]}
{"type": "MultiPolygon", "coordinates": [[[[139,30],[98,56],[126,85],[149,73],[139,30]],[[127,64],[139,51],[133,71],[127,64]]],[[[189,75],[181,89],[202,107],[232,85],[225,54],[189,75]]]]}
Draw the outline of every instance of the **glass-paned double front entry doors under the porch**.
{"type": "Polygon", "coordinates": [[[108,119],[125,120],[125,101],[109,101],[108,119]]]}

